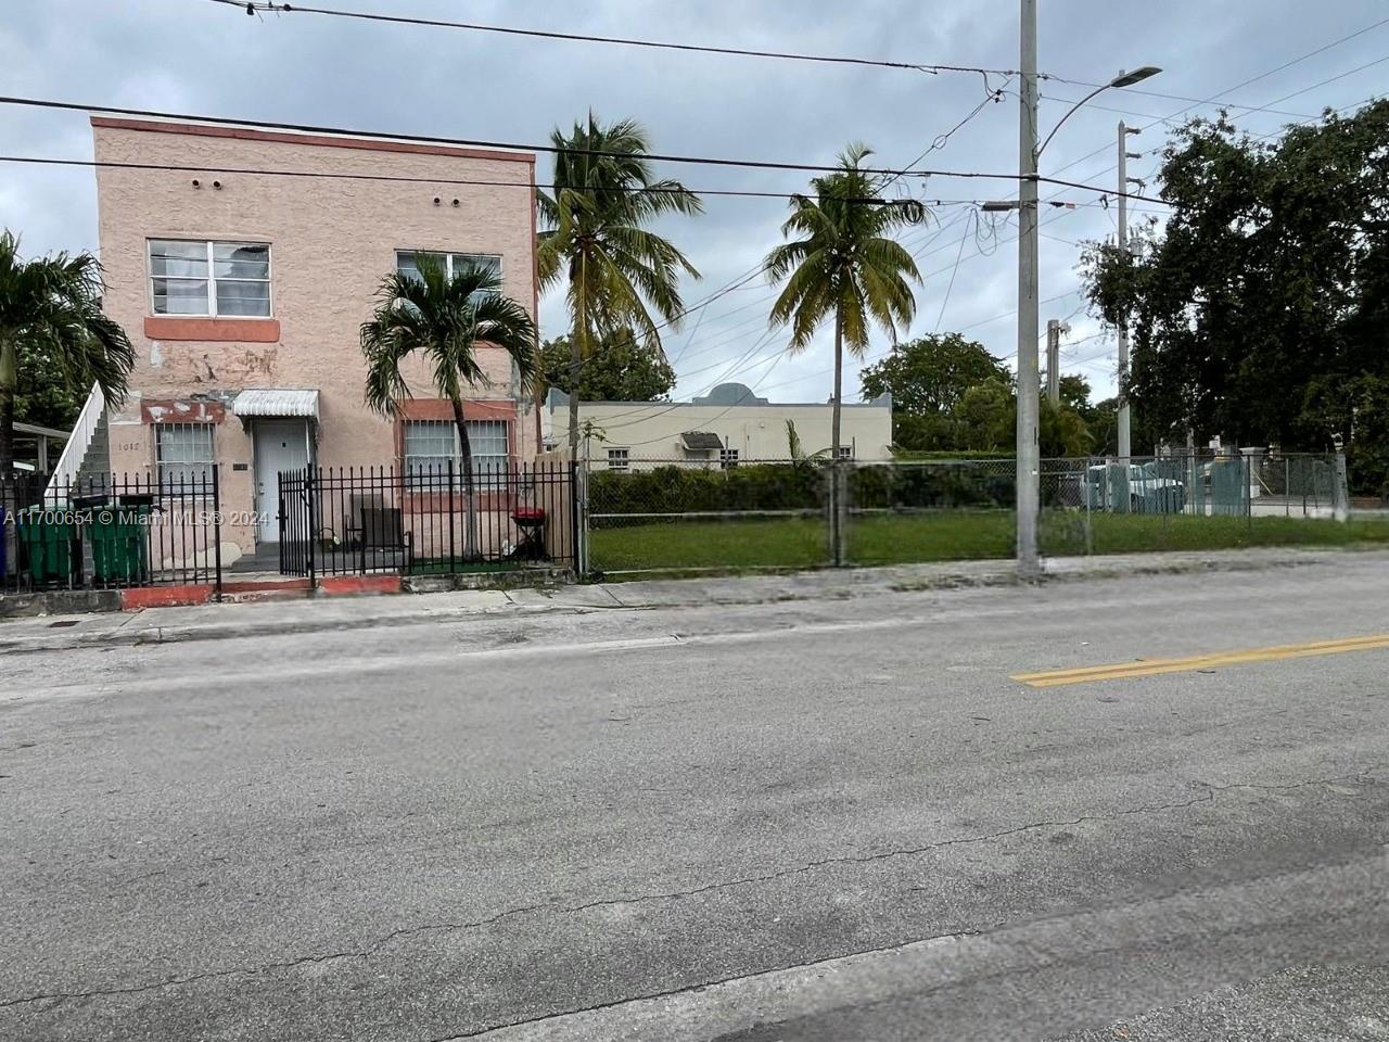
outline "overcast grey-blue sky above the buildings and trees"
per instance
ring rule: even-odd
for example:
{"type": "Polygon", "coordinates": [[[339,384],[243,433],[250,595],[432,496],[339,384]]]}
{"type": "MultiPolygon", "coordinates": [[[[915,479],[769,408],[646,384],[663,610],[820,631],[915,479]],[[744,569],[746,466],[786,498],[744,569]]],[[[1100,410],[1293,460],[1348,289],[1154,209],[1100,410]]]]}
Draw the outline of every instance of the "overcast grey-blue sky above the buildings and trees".
{"type": "MultiPolygon", "coordinates": [[[[425,18],[567,32],[710,43],[817,54],[1010,69],[1018,64],[1017,0],[322,0],[339,7],[425,18]]],[[[0,68],[4,94],[129,106],[415,135],[546,140],[592,107],[635,117],[661,153],[828,163],[863,140],[883,167],[915,160],[983,97],[978,74],[838,67],[549,42],[456,29],[385,25],[290,14],[250,18],[208,0],[4,0],[0,68]]],[[[1132,176],[1149,178],[1167,124],[1210,115],[1218,99],[1253,133],[1276,132],[1325,107],[1385,93],[1389,6],[1383,0],[1045,0],[1039,67],[1057,78],[1103,82],[1121,68],[1160,65],[1138,90],[1111,90],[1072,117],[1049,146],[1045,175],[1113,189],[1115,124],[1145,128],[1132,176]],[[1370,28],[1374,26],[1374,28],[1370,28]],[[1367,29],[1365,32],[1358,32],[1367,29]],[[1353,39],[1332,44],[1340,38],[1353,39]],[[1320,53],[1310,54],[1317,49],[1320,53]],[[1308,56],[1310,54],[1310,56],[1308,56]],[[1290,64],[1289,64],[1290,63],[1290,64]],[[1378,64],[1371,64],[1378,63],[1378,64]],[[1279,68],[1283,67],[1283,68],[1279,68]],[[1267,74],[1267,75],[1265,75],[1267,74]],[[1149,93],[1156,92],[1156,93],[1149,93]],[[1251,111],[1251,108],[1254,111],[1251,111]]],[[[989,86],[1013,86],[992,76],[989,86]]],[[[1042,133],[1088,88],[1042,86],[1042,133]]],[[[0,108],[0,153],[90,158],[86,118],[0,108]]],[[[988,104],[926,165],[950,171],[1017,169],[1017,96],[988,104]]],[[[547,168],[542,158],[542,172],[547,168]]],[[[795,172],[671,165],[694,189],[792,192],[795,172]]],[[[542,176],[543,179],[543,176],[542,176]]],[[[1007,181],[947,176],[901,182],[935,207],[928,226],[904,233],[924,285],[911,333],[964,331],[1000,357],[1015,347],[1015,225],[990,221],[968,200],[1006,197],[1007,181]],[[961,201],[954,201],[961,200],[961,201]]],[[[90,169],[0,163],[0,225],[24,236],[25,253],[96,249],[90,169]]],[[[1076,243],[1111,236],[1113,208],[1095,192],[1047,189],[1076,203],[1043,207],[1042,321],[1070,322],[1063,368],[1097,395],[1113,388],[1114,343],[1078,293],[1076,243]]],[[[703,279],[699,301],[749,272],[779,240],[785,201],[710,199],[701,218],[663,231],[703,279]]],[[[1133,221],[1157,213],[1135,204],[1133,221]]],[[[786,357],[767,331],[772,290],[761,281],[720,296],[667,339],[688,397],[738,379],[772,400],[824,400],[828,343],[786,357]]],[[[557,299],[542,306],[547,336],[563,332],[557,299]]],[[[883,353],[879,336],[870,358],[883,353]]],[[[857,392],[857,368],[847,392],[857,392]]]]}

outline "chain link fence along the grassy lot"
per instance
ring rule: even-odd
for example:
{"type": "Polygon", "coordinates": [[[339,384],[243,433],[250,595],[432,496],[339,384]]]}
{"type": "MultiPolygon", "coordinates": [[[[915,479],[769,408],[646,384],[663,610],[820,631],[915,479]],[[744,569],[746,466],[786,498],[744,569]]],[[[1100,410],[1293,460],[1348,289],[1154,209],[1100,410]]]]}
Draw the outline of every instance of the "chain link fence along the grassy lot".
{"type": "MultiPolygon", "coordinates": [[[[1345,542],[1335,457],[1043,460],[1051,557],[1345,542]]],[[[626,460],[588,475],[590,571],[796,570],[1015,553],[1011,458],[626,460]]]]}

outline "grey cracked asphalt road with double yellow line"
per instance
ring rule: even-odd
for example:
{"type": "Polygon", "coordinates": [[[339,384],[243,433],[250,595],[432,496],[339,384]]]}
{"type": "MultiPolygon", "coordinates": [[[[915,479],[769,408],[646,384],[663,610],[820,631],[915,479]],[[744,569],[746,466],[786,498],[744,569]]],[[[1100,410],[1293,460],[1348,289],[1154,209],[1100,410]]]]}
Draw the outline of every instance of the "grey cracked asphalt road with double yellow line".
{"type": "Polygon", "coordinates": [[[1386,1039],[1389,650],[1013,679],[1385,632],[1347,556],[11,654],[0,1039],[1386,1039]]]}

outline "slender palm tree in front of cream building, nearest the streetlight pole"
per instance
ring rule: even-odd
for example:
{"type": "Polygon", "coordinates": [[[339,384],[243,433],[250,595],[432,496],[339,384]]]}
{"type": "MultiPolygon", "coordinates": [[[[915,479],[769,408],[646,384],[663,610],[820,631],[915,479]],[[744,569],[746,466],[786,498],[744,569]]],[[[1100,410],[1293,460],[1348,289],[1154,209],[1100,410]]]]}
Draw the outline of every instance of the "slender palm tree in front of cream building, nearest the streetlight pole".
{"type": "Polygon", "coordinates": [[[863,357],[874,325],[896,340],[897,328],[907,328],[917,311],[910,283],[921,282],[911,254],[892,235],[924,221],[926,210],[915,200],[885,199],[885,178],[861,167],[871,154],[850,144],[836,171],[811,181],[814,197],[792,199],[782,235],[801,238],[782,243],[765,261],[768,278],[786,281],[771,324],[790,325],[789,352],[804,350],[815,329],[835,320],[832,458],[839,458],[845,346],[863,357]]]}

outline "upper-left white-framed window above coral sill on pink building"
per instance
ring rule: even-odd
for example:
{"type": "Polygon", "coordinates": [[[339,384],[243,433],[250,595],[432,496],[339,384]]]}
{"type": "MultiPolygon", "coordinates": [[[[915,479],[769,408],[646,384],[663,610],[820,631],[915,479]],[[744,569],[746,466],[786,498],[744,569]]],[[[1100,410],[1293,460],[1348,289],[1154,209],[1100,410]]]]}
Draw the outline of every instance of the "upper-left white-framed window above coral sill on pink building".
{"type": "Polygon", "coordinates": [[[269,245],[150,239],[150,307],[157,315],[271,314],[269,245]]]}

